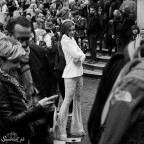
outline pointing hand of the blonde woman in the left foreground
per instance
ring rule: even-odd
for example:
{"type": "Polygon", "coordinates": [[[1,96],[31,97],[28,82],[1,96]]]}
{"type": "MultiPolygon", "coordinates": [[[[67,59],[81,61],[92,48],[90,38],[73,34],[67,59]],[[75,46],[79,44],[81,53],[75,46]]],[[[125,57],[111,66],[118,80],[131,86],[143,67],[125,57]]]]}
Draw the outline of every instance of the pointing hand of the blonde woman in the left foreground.
{"type": "Polygon", "coordinates": [[[51,96],[49,98],[43,98],[38,103],[42,106],[44,111],[50,112],[54,110],[54,100],[58,97],[58,95],[51,96]]]}

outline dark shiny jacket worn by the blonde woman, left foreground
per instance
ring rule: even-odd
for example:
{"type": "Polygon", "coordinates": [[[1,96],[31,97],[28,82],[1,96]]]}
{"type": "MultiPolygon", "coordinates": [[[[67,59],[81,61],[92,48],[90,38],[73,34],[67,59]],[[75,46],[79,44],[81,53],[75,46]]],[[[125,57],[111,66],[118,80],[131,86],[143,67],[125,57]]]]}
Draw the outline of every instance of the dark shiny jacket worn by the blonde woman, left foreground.
{"type": "Polygon", "coordinates": [[[19,91],[0,75],[0,140],[12,132],[25,140],[32,138],[32,124],[43,116],[38,103],[26,109],[19,91]]]}

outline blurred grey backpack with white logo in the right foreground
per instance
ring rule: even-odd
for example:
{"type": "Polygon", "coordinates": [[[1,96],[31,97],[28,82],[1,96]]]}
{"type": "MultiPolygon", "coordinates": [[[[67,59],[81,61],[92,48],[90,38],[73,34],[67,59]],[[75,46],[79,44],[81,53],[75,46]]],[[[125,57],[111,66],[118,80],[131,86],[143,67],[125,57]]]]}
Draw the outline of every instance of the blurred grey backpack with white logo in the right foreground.
{"type": "Polygon", "coordinates": [[[143,84],[144,84],[144,59],[135,59],[133,61],[130,61],[124,66],[124,68],[120,72],[109,94],[109,97],[103,108],[99,133],[95,137],[93,143],[105,143],[107,140],[109,140],[109,143],[111,142],[131,143],[131,140],[133,140],[134,142],[132,143],[136,144],[139,143],[138,141],[141,141],[143,139],[143,133],[144,133],[144,122],[143,122],[143,115],[142,115],[144,110],[143,98],[142,98],[143,84]],[[133,80],[135,82],[132,83],[131,85],[131,82],[133,80]],[[140,85],[137,85],[136,82],[138,82],[137,84],[140,85]],[[130,87],[128,86],[129,84],[130,87]],[[137,85],[134,91],[130,90],[130,88],[134,86],[133,84],[137,85]],[[131,93],[129,93],[129,90],[123,91],[123,87],[125,86],[129,87],[131,93]],[[136,95],[137,90],[139,91],[138,93],[140,94],[138,96],[136,95]],[[135,100],[136,97],[137,97],[137,101],[135,100]],[[134,99],[134,101],[132,101],[132,99],[134,99]],[[139,100],[141,99],[139,103],[137,103],[138,99],[139,100]],[[118,102],[118,105],[114,105],[116,101],[118,102]],[[135,105],[136,103],[137,105],[135,105]],[[120,109],[117,110],[117,108],[119,106],[121,106],[122,108],[123,104],[124,104],[124,108],[121,110],[121,113],[119,115],[118,110],[120,109]],[[126,108],[126,112],[124,111],[125,108],[126,108]],[[129,110],[127,111],[127,109],[129,110]],[[140,110],[141,113],[136,113],[138,110],[140,110]],[[121,117],[122,113],[124,113],[124,117],[126,114],[128,114],[126,116],[126,119],[121,117]],[[115,116],[114,114],[116,114],[117,116],[115,116]],[[117,121],[118,119],[119,121],[117,121]],[[128,122],[128,120],[130,120],[130,122],[128,122]],[[117,126],[116,122],[118,123],[119,126],[117,126]],[[120,131],[114,131],[115,127],[116,130],[120,129],[120,131]],[[133,131],[130,131],[130,129],[132,129],[133,131]],[[113,133],[115,134],[113,135],[113,133]],[[128,135],[126,135],[126,133],[128,133],[128,135]],[[113,137],[111,137],[112,135],[113,137]]]}

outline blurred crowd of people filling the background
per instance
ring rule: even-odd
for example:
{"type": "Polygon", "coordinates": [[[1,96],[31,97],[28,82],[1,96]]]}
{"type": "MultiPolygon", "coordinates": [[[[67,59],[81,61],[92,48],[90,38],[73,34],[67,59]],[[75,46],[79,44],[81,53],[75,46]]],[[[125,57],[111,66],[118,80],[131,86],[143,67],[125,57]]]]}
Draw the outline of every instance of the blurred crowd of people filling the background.
{"type": "Polygon", "coordinates": [[[103,47],[108,49],[108,55],[113,48],[122,51],[139,33],[135,0],[1,0],[0,10],[2,32],[2,23],[9,17],[23,15],[32,24],[32,42],[42,46],[47,54],[52,48],[52,37],[58,39],[61,23],[73,20],[75,39],[85,53],[89,49],[90,63],[97,62],[103,47]]]}

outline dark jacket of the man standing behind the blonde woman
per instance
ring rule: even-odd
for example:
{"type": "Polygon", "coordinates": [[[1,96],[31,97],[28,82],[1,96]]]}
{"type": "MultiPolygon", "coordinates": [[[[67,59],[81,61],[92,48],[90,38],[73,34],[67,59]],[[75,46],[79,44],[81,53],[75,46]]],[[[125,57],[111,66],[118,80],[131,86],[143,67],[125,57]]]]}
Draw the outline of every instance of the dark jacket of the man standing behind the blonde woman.
{"type": "Polygon", "coordinates": [[[30,44],[29,65],[34,85],[40,91],[41,98],[49,97],[53,68],[50,66],[44,50],[36,44],[30,44]]]}

